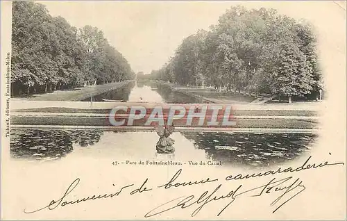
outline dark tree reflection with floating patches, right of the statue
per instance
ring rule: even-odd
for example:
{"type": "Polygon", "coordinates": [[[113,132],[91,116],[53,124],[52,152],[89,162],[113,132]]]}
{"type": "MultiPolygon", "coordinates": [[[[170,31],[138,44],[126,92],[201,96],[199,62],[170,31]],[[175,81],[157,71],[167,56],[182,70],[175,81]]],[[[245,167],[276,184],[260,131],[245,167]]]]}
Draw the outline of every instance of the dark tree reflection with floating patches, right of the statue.
{"type": "Polygon", "coordinates": [[[316,134],[183,132],[208,158],[223,164],[266,166],[282,163],[310,149],[316,134]]]}

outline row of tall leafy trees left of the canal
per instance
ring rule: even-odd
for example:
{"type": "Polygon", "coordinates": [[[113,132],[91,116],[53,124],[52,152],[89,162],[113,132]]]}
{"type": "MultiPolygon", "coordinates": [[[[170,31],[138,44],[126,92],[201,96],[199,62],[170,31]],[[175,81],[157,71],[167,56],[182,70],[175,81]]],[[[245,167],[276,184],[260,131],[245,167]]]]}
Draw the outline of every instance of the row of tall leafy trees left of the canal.
{"type": "Polygon", "coordinates": [[[135,78],[98,28],[75,28],[31,1],[13,1],[12,14],[12,95],[135,78]]]}

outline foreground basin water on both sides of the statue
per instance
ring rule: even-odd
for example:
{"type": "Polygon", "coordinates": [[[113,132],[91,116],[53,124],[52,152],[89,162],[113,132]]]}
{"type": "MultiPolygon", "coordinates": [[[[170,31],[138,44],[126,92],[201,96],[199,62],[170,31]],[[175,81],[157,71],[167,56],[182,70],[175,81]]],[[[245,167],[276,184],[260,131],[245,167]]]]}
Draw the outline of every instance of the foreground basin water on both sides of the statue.
{"type": "MultiPolygon", "coordinates": [[[[71,152],[116,158],[151,159],[155,132],[117,132],[68,129],[12,129],[10,153],[14,158],[56,159],[71,152]],[[76,152],[90,146],[88,150],[76,152]]],[[[174,133],[176,160],[221,161],[222,165],[267,166],[301,156],[316,140],[299,133],[174,133]],[[203,154],[205,152],[205,154],[203,154]]],[[[172,156],[160,156],[169,159],[172,156]]],[[[157,158],[160,159],[160,158],[157,158]]],[[[185,163],[185,162],[182,162],[185,163]]]]}

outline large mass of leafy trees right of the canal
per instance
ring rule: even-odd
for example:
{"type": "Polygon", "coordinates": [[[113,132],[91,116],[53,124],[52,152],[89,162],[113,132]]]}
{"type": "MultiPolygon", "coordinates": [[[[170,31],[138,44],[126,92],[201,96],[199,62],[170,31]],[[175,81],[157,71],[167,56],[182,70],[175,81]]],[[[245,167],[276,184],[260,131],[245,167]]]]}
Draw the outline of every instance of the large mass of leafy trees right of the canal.
{"type": "Polygon", "coordinates": [[[144,77],[285,97],[323,87],[310,24],[241,6],[227,10],[209,31],[185,38],[169,63],[144,77]]]}

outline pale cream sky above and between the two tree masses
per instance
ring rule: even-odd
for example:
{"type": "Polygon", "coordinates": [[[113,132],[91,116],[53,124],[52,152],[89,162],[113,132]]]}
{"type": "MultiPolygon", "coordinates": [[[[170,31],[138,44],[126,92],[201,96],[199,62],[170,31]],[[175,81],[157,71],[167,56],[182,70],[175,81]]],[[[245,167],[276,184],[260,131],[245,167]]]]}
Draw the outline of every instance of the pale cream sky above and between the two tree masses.
{"type": "Polygon", "coordinates": [[[281,14],[308,19],[319,31],[322,50],[334,44],[334,47],[340,47],[341,52],[346,52],[346,11],[332,1],[37,2],[44,3],[51,15],[64,17],[72,26],[89,24],[98,27],[110,44],[124,55],[133,70],[145,74],[166,63],[183,38],[196,33],[199,28],[208,29],[210,25],[217,24],[226,9],[238,4],[247,8],[275,8],[281,14]]]}

